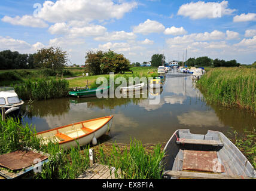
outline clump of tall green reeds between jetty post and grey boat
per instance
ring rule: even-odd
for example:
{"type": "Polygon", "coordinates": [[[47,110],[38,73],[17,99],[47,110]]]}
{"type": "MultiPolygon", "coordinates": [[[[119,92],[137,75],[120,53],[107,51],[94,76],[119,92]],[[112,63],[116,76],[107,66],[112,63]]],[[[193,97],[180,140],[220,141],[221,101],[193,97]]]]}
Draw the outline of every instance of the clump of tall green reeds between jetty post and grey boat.
{"type": "Polygon", "coordinates": [[[131,140],[129,149],[120,151],[116,144],[112,145],[112,150],[109,155],[103,152],[103,148],[99,149],[99,161],[102,164],[115,167],[115,176],[125,179],[160,179],[163,165],[164,152],[161,151],[161,145],[154,147],[152,154],[145,152],[144,147],[138,140],[131,140]],[[121,172],[117,174],[118,170],[121,172]]]}

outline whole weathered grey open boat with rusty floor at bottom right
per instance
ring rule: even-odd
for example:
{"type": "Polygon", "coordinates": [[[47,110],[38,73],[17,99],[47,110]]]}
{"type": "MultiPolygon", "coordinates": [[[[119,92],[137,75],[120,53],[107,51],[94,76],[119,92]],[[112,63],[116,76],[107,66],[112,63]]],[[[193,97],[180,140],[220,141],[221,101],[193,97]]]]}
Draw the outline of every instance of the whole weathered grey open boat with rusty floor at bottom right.
{"type": "Polygon", "coordinates": [[[256,171],[223,133],[177,130],[164,147],[164,178],[256,178],[256,171]]]}

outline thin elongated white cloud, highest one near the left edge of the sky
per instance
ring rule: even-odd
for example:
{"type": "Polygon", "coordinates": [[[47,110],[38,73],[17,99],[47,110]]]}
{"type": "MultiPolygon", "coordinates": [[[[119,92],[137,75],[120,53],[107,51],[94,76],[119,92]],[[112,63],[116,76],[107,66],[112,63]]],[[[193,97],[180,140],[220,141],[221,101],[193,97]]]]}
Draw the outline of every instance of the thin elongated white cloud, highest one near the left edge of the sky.
{"type": "Polygon", "coordinates": [[[28,15],[25,15],[22,17],[4,16],[4,18],[2,18],[2,21],[6,22],[6,23],[11,23],[13,25],[22,25],[22,26],[40,27],[40,28],[48,27],[48,24],[45,23],[43,20],[41,20],[39,18],[35,18],[33,16],[28,16],[28,15]]]}

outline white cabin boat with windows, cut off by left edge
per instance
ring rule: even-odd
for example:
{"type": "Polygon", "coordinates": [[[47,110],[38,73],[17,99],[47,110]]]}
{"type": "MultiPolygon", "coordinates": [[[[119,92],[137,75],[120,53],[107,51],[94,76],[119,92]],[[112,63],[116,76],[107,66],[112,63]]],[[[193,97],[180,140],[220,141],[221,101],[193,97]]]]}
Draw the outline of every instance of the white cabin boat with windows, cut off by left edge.
{"type": "Polygon", "coordinates": [[[0,87],[0,107],[5,108],[5,115],[19,115],[20,107],[24,104],[14,88],[0,87]]]}

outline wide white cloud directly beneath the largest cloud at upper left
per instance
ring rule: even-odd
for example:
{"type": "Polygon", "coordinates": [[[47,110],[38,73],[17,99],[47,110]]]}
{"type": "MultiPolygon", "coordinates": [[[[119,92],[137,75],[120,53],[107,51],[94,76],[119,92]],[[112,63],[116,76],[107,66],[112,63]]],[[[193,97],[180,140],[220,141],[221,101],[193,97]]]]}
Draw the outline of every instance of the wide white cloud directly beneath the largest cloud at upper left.
{"type": "Polygon", "coordinates": [[[56,23],[48,29],[51,34],[67,35],[70,38],[78,36],[100,36],[105,34],[106,28],[100,25],[87,24],[83,27],[70,27],[66,23],[56,23]]]}

